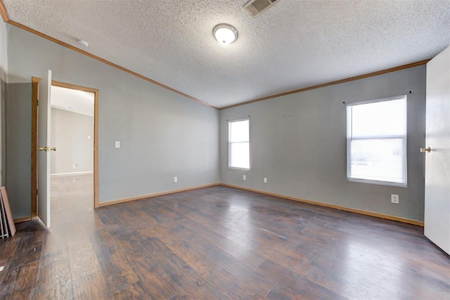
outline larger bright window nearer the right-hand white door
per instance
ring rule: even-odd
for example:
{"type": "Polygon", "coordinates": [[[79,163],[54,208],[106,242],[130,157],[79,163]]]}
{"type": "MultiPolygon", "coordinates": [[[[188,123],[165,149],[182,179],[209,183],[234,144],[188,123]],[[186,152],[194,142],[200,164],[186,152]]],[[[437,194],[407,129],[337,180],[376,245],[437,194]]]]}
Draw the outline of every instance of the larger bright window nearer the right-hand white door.
{"type": "Polygon", "coordinates": [[[406,96],[347,105],[347,180],[406,186],[406,96]]]}

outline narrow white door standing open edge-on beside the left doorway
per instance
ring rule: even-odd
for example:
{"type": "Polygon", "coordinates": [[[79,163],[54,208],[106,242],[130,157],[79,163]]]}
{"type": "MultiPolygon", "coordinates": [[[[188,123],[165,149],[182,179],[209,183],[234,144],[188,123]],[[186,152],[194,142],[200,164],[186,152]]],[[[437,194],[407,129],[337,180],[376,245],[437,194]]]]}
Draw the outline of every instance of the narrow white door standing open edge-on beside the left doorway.
{"type": "Polygon", "coordinates": [[[37,122],[37,215],[50,227],[50,96],[51,70],[39,81],[39,102],[37,122]]]}

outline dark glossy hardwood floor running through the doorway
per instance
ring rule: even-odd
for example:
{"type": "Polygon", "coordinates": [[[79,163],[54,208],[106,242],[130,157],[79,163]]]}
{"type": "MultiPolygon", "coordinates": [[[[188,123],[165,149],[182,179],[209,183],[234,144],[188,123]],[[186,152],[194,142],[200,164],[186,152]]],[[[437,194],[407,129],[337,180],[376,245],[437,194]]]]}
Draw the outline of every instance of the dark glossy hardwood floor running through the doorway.
{"type": "Polygon", "coordinates": [[[53,178],[52,228],[0,240],[0,299],[450,299],[423,228],[226,187],[94,211],[53,178]]]}

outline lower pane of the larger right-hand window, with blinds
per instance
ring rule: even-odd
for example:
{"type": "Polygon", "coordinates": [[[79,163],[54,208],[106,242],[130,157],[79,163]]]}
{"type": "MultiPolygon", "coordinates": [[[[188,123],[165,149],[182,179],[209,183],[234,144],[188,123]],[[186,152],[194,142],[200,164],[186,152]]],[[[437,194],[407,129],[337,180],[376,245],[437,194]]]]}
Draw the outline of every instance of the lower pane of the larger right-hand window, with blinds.
{"type": "Polygon", "coordinates": [[[405,139],[350,141],[349,177],[392,183],[406,183],[405,139]]]}

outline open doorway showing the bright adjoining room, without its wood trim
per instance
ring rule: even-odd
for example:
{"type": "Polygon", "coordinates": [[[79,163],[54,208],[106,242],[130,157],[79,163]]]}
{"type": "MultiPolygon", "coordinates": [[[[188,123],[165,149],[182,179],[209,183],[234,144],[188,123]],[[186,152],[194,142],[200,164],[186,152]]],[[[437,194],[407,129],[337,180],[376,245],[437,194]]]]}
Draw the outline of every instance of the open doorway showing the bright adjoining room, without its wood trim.
{"type": "Polygon", "coordinates": [[[50,99],[51,146],[57,150],[51,152],[50,164],[51,211],[55,219],[91,209],[94,93],[52,86],[50,99]]]}

